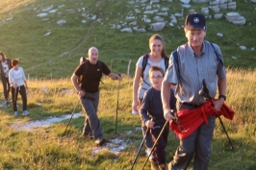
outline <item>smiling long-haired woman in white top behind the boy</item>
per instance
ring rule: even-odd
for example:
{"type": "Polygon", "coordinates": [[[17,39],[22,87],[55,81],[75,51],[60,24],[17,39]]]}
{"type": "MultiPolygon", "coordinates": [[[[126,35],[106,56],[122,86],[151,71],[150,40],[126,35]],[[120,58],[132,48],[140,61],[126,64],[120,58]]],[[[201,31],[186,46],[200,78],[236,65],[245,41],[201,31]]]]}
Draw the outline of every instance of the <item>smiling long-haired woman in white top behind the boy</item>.
{"type": "MultiPolygon", "coordinates": [[[[166,50],[164,46],[164,38],[158,34],[153,35],[149,38],[149,49],[150,53],[146,57],[141,56],[139,61],[136,64],[136,72],[133,83],[133,104],[132,104],[132,113],[135,114],[139,112],[141,107],[141,101],[144,95],[144,92],[151,86],[151,83],[148,78],[149,69],[152,65],[159,66],[163,68],[166,72],[166,63],[168,63],[168,57],[166,55],[166,50]],[[144,58],[147,58],[146,66],[142,71],[142,62],[144,58]],[[142,76],[141,76],[142,75],[142,76]]],[[[142,134],[146,135],[146,126],[142,122],[142,134]]],[[[151,148],[153,147],[153,140],[151,135],[146,135],[145,146],[146,154],[150,153],[151,148]]],[[[152,159],[152,158],[150,158],[152,159]]]]}

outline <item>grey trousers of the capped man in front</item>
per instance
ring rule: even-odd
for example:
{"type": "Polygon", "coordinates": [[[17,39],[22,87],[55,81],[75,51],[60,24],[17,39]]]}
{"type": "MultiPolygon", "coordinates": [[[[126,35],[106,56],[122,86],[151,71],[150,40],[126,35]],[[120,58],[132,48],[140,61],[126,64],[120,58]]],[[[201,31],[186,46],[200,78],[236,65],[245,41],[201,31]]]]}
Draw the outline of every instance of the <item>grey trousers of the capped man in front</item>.
{"type": "Polygon", "coordinates": [[[215,116],[208,116],[208,124],[204,122],[190,136],[180,140],[180,146],[168,164],[169,170],[187,169],[193,156],[193,170],[208,169],[215,121],[215,116]]]}

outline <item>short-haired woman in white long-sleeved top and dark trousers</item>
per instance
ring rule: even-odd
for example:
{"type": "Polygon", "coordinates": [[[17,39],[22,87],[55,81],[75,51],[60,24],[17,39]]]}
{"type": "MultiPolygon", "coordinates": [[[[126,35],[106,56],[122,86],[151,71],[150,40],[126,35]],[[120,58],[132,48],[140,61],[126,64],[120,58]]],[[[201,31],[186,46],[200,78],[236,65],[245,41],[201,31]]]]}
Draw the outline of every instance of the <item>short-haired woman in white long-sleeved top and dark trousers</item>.
{"type": "Polygon", "coordinates": [[[21,95],[22,98],[22,105],[23,111],[22,115],[27,115],[30,112],[27,110],[27,94],[26,88],[28,88],[25,73],[22,67],[19,67],[18,60],[13,59],[12,66],[13,68],[9,71],[9,81],[12,88],[12,100],[13,100],[13,111],[14,116],[17,116],[17,107],[16,107],[16,100],[17,100],[17,93],[21,95]],[[25,84],[25,85],[24,85],[25,84]]]}

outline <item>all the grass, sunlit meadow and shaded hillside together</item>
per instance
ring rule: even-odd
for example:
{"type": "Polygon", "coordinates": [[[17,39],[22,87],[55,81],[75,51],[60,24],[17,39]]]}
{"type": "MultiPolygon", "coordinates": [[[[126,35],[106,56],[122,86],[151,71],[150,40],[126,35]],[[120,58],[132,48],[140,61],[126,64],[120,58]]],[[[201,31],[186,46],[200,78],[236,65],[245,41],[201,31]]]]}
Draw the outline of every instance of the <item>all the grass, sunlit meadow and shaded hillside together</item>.
{"type": "MultiPolygon", "coordinates": [[[[217,126],[212,144],[212,155],[209,164],[210,170],[254,170],[255,164],[255,3],[244,1],[237,2],[237,12],[246,18],[246,24],[237,26],[229,23],[224,18],[207,20],[206,39],[218,43],[221,48],[225,65],[228,67],[227,104],[236,111],[233,121],[223,119],[236,149],[230,151],[230,146],[217,120],[217,126]],[[250,25],[249,25],[250,23],[250,25]],[[223,37],[216,36],[222,33],[223,37]],[[245,45],[247,50],[238,46],[245,45]],[[238,60],[232,60],[232,56],[238,60]]],[[[141,6],[140,3],[134,5],[141,6]]],[[[180,1],[172,3],[161,2],[161,7],[168,7],[169,13],[181,12],[180,1]]],[[[208,4],[191,3],[192,9],[200,12],[201,7],[208,4]]],[[[187,14],[189,9],[184,9],[187,14]]],[[[110,24],[120,24],[125,21],[128,12],[134,8],[124,0],[94,1],[94,0],[5,0],[0,3],[0,51],[8,58],[20,59],[20,65],[30,75],[28,81],[28,108],[31,114],[27,117],[13,117],[13,109],[0,109],[0,169],[130,169],[137,150],[141,144],[141,132],[135,131],[141,126],[139,116],[132,115],[132,79],[124,78],[120,88],[118,129],[117,135],[129,139],[128,147],[116,157],[110,152],[92,156],[93,141],[80,137],[84,118],[73,119],[67,130],[64,140],[60,143],[67,121],[54,124],[48,128],[38,129],[33,132],[13,131],[11,124],[14,121],[26,122],[38,120],[46,116],[58,116],[70,113],[77,102],[74,93],[62,94],[64,89],[71,89],[69,80],[72,72],[79,63],[81,56],[87,56],[90,46],[99,49],[100,60],[110,65],[113,60],[115,73],[126,73],[128,61],[131,60],[130,75],[134,74],[135,63],[139,57],[147,52],[148,39],[155,32],[147,33],[121,33],[111,29],[110,24]],[[25,4],[29,2],[25,6],[25,4]],[[65,5],[63,8],[58,6],[65,5]],[[41,10],[52,6],[58,12],[49,13],[45,21],[37,17],[41,10]],[[86,12],[97,15],[99,21],[90,20],[82,16],[78,9],[85,8],[86,12]],[[76,12],[69,13],[67,10],[76,12]],[[59,13],[60,12],[60,13],[59,13]],[[6,20],[13,17],[12,20],[6,20]],[[65,19],[63,26],[58,26],[57,21],[65,19]],[[83,24],[82,19],[87,23],[83,24]],[[43,36],[51,31],[50,36],[43,36]],[[52,81],[50,81],[50,79],[52,81]],[[61,79],[60,79],[61,78],[61,79]],[[48,92],[43,92],[43,86],[49,87],[48,92]],[[38,103],[42,104],[38,106],[38,103]],[[121,135],[132,131],[132,134],[121,135]]],[[[229,10],[221,12],[231,12],[229,10]]],[[[214,13],[212,13],[214,14],[214,13]]],[[[142,13],[138,14],[138,24],[141,22],[142,13]]],[[[151,16],[150,16],[151,17],[151,16]]],[[[151,18],[152,19],[152,18],[151,18]]],[[[127,21],[129,23],[129,21],[127,21]]],[[[183,29],[178,26],[184,24],[184,19],[178,19],[174,27],[167,26],[161,36],[165,38],[166,52],[186,43],[183,29]]],[[[146,25],[148,28],[148,25],[146,25]]],[[[104,79],[101,86],[101,97],[98,115],[107,138],[115,138],[115,107],[117,83],[104,79]]],[[[3,91],[0,87],[0,91],[3,91]]],[[[2,97],[3,98],[3,97],[2,97]]],[[[1,98],[1,99],[2,99],[1,98]]],[[[21,109],[21,101],[18,105],[21,109]]],[[[19,110],[20,111],[20,110],[19,110]]],[[[80,105],[75,111],[81,111],[80,105]]],[[[179,141],[169,134],[166,148],[166,159],[169,161],[175,153],[179,141]]],[[[139,169],[145,159],[143,149],[135,169],[139,169]]],[[[149,169],[149,163],[146,168],[149,169]]],[[[192,170],[190,166],[189,170],[192,170]]]]}

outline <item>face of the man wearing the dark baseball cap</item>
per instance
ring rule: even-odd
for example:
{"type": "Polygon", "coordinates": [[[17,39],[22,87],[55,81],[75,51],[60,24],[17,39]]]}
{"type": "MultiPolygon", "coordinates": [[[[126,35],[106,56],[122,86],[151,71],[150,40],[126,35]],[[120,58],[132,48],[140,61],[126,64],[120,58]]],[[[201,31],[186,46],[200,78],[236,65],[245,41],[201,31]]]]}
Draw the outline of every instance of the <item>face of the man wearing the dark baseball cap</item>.
{"type": "Polygon", "coordinates": [[[193,48],[201,47],[204,36],[206,36],[206,32],[200,29],[194,29],[186,33],[186,37],[193,48]]]}

